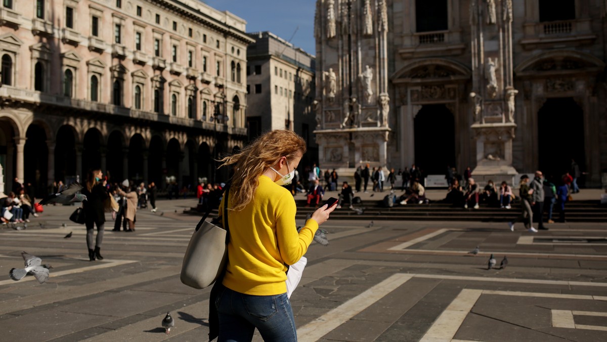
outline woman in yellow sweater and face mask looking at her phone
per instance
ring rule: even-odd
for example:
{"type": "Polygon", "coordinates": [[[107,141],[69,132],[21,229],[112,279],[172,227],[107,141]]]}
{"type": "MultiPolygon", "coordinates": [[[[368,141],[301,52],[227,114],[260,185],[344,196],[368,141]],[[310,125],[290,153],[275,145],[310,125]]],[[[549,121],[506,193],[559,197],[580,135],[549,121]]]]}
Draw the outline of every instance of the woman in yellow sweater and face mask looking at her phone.
{"type": "MultiPolygon", "coordinates": [[[[234,169],[228,194],[228,264],[215,307],[219,341],[297,341],[287,297],[287,266],[308,250],[318,226],[335,205],[314,211],[297,233],[293,179],[306,142],[293,131],[268,132],[239,154],[223,159],[234,169]]],[[[225,199],[225,196],[223,197],[225,199]]],[[[219,206],[223,213],[223,200],[219,206]]]]}

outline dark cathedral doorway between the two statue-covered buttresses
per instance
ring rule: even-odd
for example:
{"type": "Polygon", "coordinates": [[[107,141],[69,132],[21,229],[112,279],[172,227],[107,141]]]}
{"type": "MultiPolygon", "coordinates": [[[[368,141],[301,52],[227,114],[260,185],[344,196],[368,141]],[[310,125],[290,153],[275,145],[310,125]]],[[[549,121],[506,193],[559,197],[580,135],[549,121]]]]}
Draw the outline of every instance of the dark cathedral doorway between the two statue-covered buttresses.
{"type": "Polygon", "coordinates": [[[415,165],[425,174],[455,166],[455,117],[444,104],[424,104],[413,120],[415,165]]]}

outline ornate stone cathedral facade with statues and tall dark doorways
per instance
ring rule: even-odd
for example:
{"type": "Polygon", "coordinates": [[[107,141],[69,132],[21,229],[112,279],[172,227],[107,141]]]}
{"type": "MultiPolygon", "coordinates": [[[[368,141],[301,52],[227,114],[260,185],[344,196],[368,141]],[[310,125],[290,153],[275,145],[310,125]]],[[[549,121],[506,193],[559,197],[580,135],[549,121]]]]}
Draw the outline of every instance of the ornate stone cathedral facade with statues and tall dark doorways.
{"type": "Polygon", "coordinates": [[[323,168],[470,166],[481,179],[513,182],[536,169],[558,177],[574,159],[586,185],[601,185],[605,1],[316,6],[323,168]]]}

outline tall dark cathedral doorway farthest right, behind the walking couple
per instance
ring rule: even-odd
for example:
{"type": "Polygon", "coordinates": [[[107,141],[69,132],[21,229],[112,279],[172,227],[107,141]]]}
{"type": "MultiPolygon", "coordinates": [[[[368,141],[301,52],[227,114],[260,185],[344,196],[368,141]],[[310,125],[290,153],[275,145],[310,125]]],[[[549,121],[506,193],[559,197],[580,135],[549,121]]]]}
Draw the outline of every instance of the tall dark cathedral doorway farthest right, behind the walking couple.
{"type": "Polygon", "coordinates": [[[560,180],[571,159],[586,171],[583,114],[572,97],[549,98],[538,111],[538,164],[546,177],[560,180]]]}

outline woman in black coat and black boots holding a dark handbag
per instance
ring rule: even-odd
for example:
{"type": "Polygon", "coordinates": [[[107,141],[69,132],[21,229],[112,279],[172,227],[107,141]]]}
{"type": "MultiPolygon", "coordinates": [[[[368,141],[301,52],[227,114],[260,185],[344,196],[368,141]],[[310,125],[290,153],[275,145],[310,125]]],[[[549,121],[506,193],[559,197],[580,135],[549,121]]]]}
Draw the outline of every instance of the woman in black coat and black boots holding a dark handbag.
{"type": "Polygon", "coordinates": [[[107,194],[106,180],[103,179],[103,173],[100,169],[89,171],[86,185],[82,193],[86,195],[87,200],[82,202],[84,211],[84,225],[86,226],[86,245],[89,248],[89,260],[95,261],[95,258],[103,260],[101,256],[101,242],[103,241],[103,230],[106,222],[105,205],[107,194]],[[93,250],[93,228],[97,225],[97,239],[95,240],[95,249],[93,250]]]}

